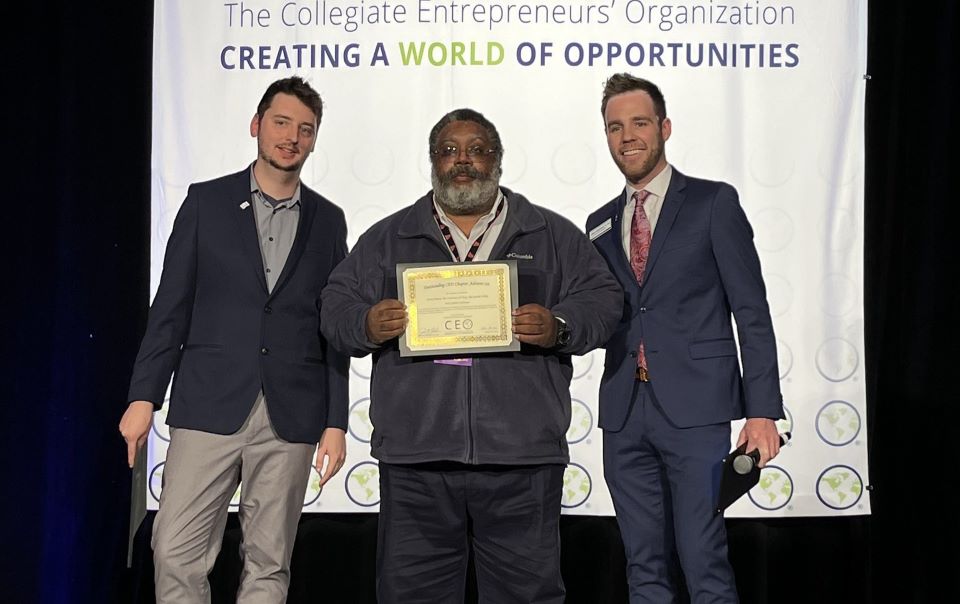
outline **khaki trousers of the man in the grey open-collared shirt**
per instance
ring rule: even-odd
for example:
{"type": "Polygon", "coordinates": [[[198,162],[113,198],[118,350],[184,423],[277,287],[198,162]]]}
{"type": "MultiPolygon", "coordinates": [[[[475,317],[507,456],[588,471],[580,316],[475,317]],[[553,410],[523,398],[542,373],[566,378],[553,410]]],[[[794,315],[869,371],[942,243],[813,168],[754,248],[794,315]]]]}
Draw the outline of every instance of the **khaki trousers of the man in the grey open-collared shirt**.
{"type": "Polygon", "coordinates": [[[243,574],[237,602],[285,601],[314,450],[315,445],[277,437],[262,394],[235,434],[172,428],[153,527],[157,602],[210,602],[207,575],[241,481],[243,574]]]}

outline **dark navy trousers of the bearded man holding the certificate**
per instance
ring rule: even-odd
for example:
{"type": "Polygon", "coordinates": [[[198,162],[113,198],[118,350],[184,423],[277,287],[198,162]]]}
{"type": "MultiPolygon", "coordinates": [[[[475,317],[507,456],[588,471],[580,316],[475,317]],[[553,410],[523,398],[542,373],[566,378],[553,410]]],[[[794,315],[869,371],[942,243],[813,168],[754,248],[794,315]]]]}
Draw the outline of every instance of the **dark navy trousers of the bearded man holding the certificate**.
{"type": "Polygon", "coordinates": [[[563,471],[381,463],[378,601],[463,602],[472,545],[481,603],[562,603],[563,471]]]}

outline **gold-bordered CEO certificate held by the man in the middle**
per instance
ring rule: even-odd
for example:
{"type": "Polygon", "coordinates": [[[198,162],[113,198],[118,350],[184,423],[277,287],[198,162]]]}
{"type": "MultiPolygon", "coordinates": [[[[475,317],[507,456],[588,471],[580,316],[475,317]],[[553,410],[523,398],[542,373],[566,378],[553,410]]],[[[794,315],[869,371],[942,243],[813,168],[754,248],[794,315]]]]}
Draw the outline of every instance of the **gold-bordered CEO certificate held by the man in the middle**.
{"type": "Polygon", "coordinates": [[[408,318],[400,356],[520,350],[516,260],[398,264],[397,283],[408,318]]]}

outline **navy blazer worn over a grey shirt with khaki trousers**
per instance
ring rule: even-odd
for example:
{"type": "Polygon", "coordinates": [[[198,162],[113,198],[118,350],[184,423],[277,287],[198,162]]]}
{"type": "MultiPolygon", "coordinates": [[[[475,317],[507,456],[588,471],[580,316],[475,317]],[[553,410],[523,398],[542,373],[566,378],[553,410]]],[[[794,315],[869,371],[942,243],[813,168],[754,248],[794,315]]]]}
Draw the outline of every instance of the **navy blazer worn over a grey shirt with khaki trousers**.
{"type": "Polygon", "coordinates": [[[300,191],[293,247],[268,293],[250,169],[190,186],[128,400],[159,408],[173,374],[174,427],[232,434],[263,388],[284,440],[313,443],[326,426],[346,428],[348,361],[320,335],[320,291],[346,255],[346,221],[337,206],[300,191]]]}

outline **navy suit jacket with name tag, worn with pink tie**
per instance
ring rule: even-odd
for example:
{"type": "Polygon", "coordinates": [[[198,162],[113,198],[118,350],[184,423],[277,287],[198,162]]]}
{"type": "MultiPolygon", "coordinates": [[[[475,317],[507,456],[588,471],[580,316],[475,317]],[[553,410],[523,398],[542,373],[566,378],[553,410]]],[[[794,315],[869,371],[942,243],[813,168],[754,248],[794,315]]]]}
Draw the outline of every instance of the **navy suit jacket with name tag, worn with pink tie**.
{"type": "Polygon", "coordinates": [[[641,338],[654,394],[675,425],[782,418],[777,348],[760,261],[736,190],[674,169],[643,287],[621,240],[625,205],[624,191],[587,220],[587,232],[594,233],[594,245],[624,289],[623,317],[606,346],[600,426],[619,430],[626,421],[641,338]],[[607,222],[610,229],[597,234],[607,222]]]}

